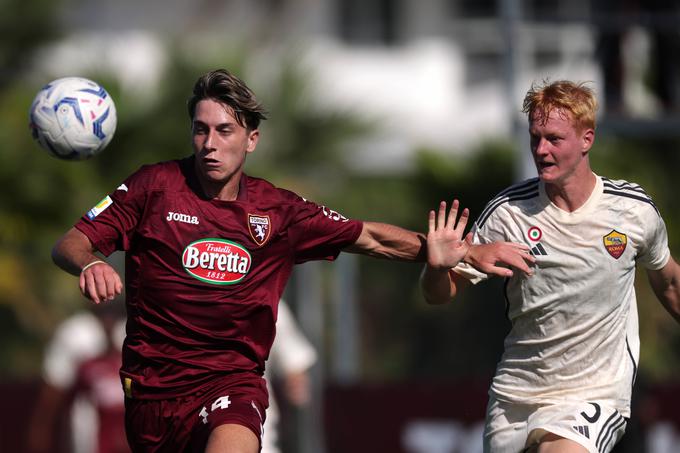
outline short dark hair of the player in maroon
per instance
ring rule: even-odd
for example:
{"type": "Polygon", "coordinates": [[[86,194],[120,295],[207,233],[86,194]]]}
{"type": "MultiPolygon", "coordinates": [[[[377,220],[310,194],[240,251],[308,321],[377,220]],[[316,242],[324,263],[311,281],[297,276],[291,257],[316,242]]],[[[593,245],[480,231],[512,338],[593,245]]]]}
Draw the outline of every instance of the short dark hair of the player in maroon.
{"type": "Polygon", "coordinates": [[[260,121],[267,119],[267,112],[253,91],[226,69],[216,69],[198,78],[187,102],[189,118],[193,120],[196,105],[204,99],[214,99],[231,107],[236,121],[250,130],[257,129],[260,121]]]}

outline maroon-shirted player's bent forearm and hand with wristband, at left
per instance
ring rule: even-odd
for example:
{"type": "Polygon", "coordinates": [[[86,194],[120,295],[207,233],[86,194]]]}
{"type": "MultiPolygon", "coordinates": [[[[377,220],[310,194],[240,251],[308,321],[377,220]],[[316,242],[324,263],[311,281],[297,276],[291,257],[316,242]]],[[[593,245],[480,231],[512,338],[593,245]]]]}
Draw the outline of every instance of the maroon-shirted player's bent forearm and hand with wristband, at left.
{"type": "Polygon", "coordinates": [[[121,294],[123,284],[116,270],[95,252],[90,239],[71,228],[52,249],[52,260],[66,272],[79,275],[80,292],[98,304],[121,294]]]}

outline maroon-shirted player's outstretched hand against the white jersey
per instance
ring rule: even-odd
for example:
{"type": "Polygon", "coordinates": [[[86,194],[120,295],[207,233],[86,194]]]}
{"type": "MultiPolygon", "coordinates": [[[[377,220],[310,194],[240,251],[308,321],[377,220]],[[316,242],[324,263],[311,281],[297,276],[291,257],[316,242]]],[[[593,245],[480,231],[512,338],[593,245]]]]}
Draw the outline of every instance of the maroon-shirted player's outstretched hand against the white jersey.
{"type": "Polygon", "coordinates": [[[465,256],[466,263],[486,273],[501,277],[512,277],[512,269],[518,269],[526,275],[532,275],[530,265],[536,262],[536,258],[529,253],[529,247],[515,242],[492,242],[490,244],[471,243],[471,237],[467,238],[470,248],[465,256]]]}

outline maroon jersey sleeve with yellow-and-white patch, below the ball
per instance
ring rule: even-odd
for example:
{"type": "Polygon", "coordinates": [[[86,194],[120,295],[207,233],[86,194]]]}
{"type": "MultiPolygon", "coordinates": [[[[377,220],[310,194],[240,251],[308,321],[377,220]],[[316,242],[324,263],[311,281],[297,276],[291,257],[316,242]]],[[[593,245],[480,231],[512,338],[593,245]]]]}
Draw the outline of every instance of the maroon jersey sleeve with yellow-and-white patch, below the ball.
{"type": "Polygon", "coordinates": [[[144,210],[148,193],[144,167],[90,209],[75,225],[106,256],[127,250],[144,210]]]}

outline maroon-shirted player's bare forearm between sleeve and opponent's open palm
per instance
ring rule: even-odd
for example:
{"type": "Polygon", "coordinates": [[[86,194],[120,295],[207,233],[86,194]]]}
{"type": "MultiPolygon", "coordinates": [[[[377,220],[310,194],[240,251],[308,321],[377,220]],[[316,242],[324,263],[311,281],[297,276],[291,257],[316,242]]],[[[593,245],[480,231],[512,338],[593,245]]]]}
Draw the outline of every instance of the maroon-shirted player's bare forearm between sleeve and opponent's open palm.
{"type": "Polygon", "coordinates": [[[345,249],[376,258],[401,261],[425,261],[425,236],[395,225],[364,222],[357,241],[345,249]]]}

